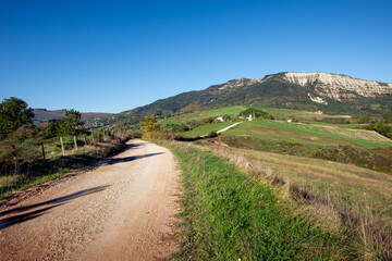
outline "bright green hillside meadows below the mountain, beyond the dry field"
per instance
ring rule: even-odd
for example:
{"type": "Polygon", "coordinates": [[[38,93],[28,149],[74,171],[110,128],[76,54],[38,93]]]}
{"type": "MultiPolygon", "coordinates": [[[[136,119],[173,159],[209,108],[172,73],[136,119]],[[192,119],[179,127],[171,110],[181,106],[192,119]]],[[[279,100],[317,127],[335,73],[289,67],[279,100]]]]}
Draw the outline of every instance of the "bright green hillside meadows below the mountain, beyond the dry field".
{"type": "MultiPolygon", "coordinates": [[[[234,115],[249,107],[230,107],[207,112],[195,112],[183,114],[179,116],[168,117],[160,121],[164,126],[171,123],[185,123],[192,120],[199,120],[205,117],[218,117],[223,114],[234,115]]],[[[271,113],[279,119],[296,119],[309,120],[311,123],[287,123],[285,121],[269,121],[258,119],[254,122],[246,122],[237,127],[225,132],[224,135],[249,135],[262,139],[285,140],[289,142],[302,142],[314,145],[351,145],[366,149],[376,147],[390,147],[392,140],[375,133],[365,129],[358,129],[358,124],[328,124],[315,122],[315,119],[328,117],[328,115],[317,114],[315,112],[296,111],[289,109],[277,108],[258,108],[268,113],[271,113]]],[[[342,117],[333,115],[333,117],[342,117]]],[[[343,116],[344,117],[344,116],[343,116]]],[[[181,135],[200,136],[206,135],[211,130],[219,130],[221,126],[226,124],[211,124],[210,126],[196,127],[191,132],[184,132],[181,135]]]]}

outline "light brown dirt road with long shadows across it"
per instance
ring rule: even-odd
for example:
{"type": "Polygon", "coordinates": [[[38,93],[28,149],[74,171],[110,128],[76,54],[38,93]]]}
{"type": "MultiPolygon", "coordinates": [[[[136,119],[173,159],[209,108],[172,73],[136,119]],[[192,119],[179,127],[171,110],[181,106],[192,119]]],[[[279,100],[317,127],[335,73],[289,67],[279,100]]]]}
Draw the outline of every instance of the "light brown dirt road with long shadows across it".
{"type": "Polygon", "coordinates": [[[142,140],[96,170],[0,209],[0,260],[159,260],[176,250],[180,173],[142,140]]]}

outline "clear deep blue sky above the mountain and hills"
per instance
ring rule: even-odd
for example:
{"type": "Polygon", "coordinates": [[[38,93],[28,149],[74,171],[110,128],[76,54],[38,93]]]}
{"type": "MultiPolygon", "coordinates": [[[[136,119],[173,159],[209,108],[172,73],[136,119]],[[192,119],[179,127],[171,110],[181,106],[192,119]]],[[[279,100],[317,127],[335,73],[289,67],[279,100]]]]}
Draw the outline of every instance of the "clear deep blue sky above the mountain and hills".
{"type": "Polygon", "coordinates": [[[392,1],[0,0],[0,99],[121,112],[229,79],[392,82],[392,1]]]}

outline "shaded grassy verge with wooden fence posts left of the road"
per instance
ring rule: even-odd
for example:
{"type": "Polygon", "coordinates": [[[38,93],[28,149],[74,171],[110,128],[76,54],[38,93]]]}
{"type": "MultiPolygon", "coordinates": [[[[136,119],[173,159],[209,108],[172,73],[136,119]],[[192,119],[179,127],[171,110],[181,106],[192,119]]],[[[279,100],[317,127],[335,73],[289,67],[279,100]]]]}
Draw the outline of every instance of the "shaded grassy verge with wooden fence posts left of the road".
{"type": "Polygon", "coordinates": [[[10,197],[14,190],[38,185],[108,157],[124,148],[126,138],[124,132],[95,130],[89,136],[76,139],[77,149],[74,138],[70,136],[52,137],[40,142],[34,138],[25,139],[15,145],[21,162],[19,173],[15,170],[12,148],[7,142],[2,142],[0,144],[0,199],[10,197]],[[63,139],[64,152],[61,149],[60,138],[63,139]]]}

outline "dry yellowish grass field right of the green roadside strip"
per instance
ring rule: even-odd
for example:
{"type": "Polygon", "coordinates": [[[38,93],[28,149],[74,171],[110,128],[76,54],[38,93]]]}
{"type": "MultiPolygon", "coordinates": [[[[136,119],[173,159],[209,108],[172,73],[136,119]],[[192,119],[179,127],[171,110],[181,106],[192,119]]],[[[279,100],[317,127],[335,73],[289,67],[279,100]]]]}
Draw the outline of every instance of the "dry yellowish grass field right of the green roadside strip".
{"type": "Polygon", "coordinates": [[[211,146],[210,151],[256,181],[280,184],[280,196],[298,216],[329,231],[344,231],[363,260],[392,259],[392,176],[347,164],[211,146]]]}

